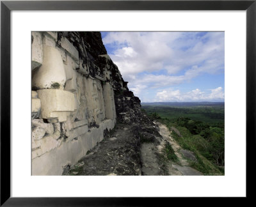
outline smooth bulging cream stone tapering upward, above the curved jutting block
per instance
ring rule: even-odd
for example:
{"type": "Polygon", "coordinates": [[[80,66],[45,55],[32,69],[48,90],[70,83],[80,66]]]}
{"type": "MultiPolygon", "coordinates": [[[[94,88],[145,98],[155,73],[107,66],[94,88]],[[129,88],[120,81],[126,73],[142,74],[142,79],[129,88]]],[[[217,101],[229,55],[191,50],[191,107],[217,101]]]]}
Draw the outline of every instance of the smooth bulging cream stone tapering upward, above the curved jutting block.
{"type": "Polygon", "coordinates": [[[44,46],[43,65],[34,71],[32,88],[64,88],[66,73],[61,54],[54,47],[44,46]]]}

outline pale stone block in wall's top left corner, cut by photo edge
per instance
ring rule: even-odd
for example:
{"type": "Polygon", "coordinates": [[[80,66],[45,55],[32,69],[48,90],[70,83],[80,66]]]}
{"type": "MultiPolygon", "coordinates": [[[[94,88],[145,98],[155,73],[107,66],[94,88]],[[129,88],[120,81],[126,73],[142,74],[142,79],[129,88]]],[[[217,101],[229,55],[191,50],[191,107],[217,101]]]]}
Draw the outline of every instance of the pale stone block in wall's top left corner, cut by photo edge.
{"type": "Polygon", "coordinates": [[[39,32],[32,32],[32,62],[31,70],[38,68],[43,63],[43,43],[42,34],[39,32]]]}

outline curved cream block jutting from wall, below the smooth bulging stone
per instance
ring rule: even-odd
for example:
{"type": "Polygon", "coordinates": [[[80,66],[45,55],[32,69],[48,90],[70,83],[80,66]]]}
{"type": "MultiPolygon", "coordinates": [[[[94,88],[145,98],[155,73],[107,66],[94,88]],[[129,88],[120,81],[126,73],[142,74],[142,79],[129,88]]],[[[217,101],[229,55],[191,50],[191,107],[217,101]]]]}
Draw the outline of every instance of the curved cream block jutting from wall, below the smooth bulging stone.
{"type": "Polygon", "coordinates": [[[75,96],[69,91],[59,89],[40,89],[41,118],[58,118],[59,122],[67,121],[70,112],[76,110],[75,96]]]}

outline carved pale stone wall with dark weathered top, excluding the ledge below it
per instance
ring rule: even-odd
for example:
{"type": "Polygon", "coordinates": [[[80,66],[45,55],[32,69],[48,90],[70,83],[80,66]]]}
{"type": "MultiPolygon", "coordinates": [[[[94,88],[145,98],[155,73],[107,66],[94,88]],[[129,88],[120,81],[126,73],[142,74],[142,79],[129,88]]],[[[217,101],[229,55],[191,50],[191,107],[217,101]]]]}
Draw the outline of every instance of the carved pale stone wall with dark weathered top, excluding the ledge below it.
{"type": "Polygon", "coordinates": [[[31,38],[32,175],[61,175],[115,127],[116,111],[124,119],[123,98],[135,100],[137,108],[140,100],[127,88],[100,33],[36,31],[31,38]],[[115,102],[122,102],[118,109],[115,102]]]}

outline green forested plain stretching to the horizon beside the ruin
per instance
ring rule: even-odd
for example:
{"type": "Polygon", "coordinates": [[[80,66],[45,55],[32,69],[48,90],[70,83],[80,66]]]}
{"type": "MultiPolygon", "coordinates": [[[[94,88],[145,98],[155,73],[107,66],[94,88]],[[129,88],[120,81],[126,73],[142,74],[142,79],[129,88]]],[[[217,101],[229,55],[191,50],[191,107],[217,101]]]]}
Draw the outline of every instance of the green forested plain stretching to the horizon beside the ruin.
{"type": "Polygon", "coordinates": [[[183,149],[195,153],[197,162],[189,160],[191,167],[204,174],[224,174],[224,107],[143,105],[143,109],[166,125],[183,149]]]}

